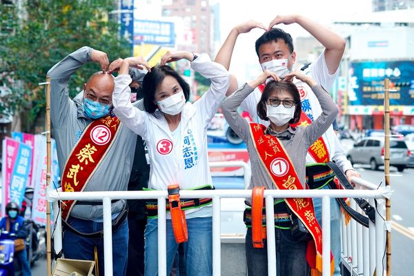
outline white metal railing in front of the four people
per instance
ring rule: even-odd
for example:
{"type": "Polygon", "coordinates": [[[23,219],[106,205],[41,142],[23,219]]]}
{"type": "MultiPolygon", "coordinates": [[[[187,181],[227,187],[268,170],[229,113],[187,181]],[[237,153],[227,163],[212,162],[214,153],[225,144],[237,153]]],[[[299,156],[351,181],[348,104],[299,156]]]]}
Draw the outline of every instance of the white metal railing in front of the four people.
{"type": "MultiPolygon", "coordinates": [[[[222,163],[222,162],[221,162],[222,163]]],[[[221,164],[225,165],[225,164],[221,164]]],[[[248,177],[250,179],[250,177],[248,177]]],[[[375,189],[377,186],[354,177],[353,180],[362,186],[375,189]],[[365,184],[365,185],[364,185],[365,184]]],[[[63,193],[58,190],[48,190],[48,199],[50,201],[58,200],[81,200],[81,201],[97,201],[102,200],[103,203],[103,245],[104,245],[104,267],[106,275],[112,276],[112,220],[111,220],[111,200],[112,199],[157,199],[158,200],[158,272],[160,276],[166,275],[166,199],[168,193],[166,190],[155,191],[110,191],[110,192],[78,192],[78,193],[63,193]]],[[[275,227],[273,219],[273,204],[275,198],[295,198],[295,197],[319,197],[322,198],[322,244],[323,244],[323,267],[322,275],[331,275],[331,197],[364,197],[366,199],[384,199],[391,194],[386,188],[379,188],[376,190],[265,190],[264,197],[266,200],[266,236],[268,239],[268,274],[276,275],[276,252],[275,252],[275,227]],[[271,219],[267,219],[267,218],[271,219]],[[328,237],[328,238],[327,238],[328,237]]],[[[213,275],[220,275],[221,269],[221,243],[220,243],[220,199],[221,198],[250,198],[251,190],[180,190],[180,197],[188,198],[212,198],[213,199],[213,275]]],[[[56,206],[56,205],[55,205],[56,206]]],[[[55,214],[58,212],[54,212],[55,214]]],[[[61,243],[61,228],[59,219],[57,218],[57,228],[55,230],[55,242],[61,243]]],[[[343,255],[345,257],[352,257],[352,262],[345,260],[348,270],[358,270],[357,266],[357,235],[356,226],[346,226],[346,239],[343,239],[344,248],[343,255]],[[351,233],[352,232],[352,233],[351,233]],[[354,233],[355,232],[355,233],[354,233]],[[348,239],[348,237],[350,237],[348,239]],[[352,250],[351,250],[352,249],[352,250]],[[352,251],[352,255],[350,255],[352,251]],[[355,252],[354,252],[355,251],[355,252]]],[[[370,223],[370,242],[369,242],[369,270],[373,271],[376,267],[376,275],[382,275],[382,266],[375,264],[382,264],[382,254],[384,252],[384,221],[380,218],[377,212],[375,226],[370,223]],[[375,244],[371,242],[371,230],[375,232],[375,244]],[[372,248],[371,248],[372,247],[372,248]],[[375,262],[373,257],[375,256],[375,262]]],[[[359,241],[361,242],[361,241],[359,241]]],[[[61,244],[55,244],[55,248],[59,250],[61,244]]],[[[361,262],[365,263],[366,259],[361,262]]],[[[355,274],[352,274],[355,275],[355,274]]],[[[366,275],[366,274],[364,274],[366,275]]],[[[370,274],[372,275],[372,273],[370,274]]]]}

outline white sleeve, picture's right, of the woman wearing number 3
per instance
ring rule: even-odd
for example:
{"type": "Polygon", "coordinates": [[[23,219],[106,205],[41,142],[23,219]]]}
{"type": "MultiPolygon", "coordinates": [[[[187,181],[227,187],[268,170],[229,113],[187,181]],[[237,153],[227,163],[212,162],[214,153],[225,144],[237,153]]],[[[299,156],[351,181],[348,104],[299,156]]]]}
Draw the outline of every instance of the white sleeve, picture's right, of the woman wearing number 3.
{"type": "Polygon", "coordinates": [[[226,97],[226,91],[230,85],[230,75],[224,66],[210,61],[207,54],[199,55],[195,61],[192,61],[191,68],[211,81],[210,88],[194,103],[206,131],[210,121],[219,109],[221,101],[226,97]]]}

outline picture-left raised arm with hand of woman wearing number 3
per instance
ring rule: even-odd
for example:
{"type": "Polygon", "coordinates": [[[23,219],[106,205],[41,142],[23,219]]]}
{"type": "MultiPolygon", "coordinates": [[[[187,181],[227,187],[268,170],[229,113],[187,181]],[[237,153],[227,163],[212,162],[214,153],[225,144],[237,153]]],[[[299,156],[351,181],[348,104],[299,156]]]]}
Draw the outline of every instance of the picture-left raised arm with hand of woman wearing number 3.
{"type": "Polygon", "coordinates": [[[146,112],[132,106],[130,101],[132,79],[129,75],[129,67],[144,67],[150,71],[150,66],[141,57],[130,57],[121,61],[119,68],[111,68],[114,71],[119,70],[118,76],[115,78],[115,89],[112,95],[112,104],[114,106],[115,115],[130,130],[142,137],[146,133],[146,112]]]}

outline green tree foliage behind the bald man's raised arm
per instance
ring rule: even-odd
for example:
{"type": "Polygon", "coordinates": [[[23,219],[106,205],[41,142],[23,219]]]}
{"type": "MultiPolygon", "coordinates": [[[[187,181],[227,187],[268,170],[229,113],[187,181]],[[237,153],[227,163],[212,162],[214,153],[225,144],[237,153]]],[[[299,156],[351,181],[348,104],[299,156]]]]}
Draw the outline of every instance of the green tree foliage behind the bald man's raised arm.
{"type": "MultiPolygon", "coordinates": [[[[34,119],[45,107],[44,88],[39,83],[45,80],[46,72],[82,46],[106,52],[110,61],[130,55],[127,44],[119,38],[119,24],[111,19],[111,11],[117,8],[113,0],[23,3],[21,10],[0,5],[0,75],[9,80],[0,79],[0,86],[10,86],[12,90],[6,101],[0,99],[3,106],[0,115],[26,103],[31,106],[34,119]]],[[[77,70],[72,75],[70,95],[76,95],[97,70],[100,70],[97,63],[88,63],[77,70]]]]}

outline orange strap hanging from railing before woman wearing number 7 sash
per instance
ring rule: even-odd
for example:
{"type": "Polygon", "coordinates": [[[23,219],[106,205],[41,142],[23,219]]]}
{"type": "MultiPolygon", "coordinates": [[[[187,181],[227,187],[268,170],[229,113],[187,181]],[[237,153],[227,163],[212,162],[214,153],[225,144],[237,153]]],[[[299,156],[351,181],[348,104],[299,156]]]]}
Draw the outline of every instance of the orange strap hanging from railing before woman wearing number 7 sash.
{"type": "Polygon", "coordinates": [[[266,226],[263,226],[263,197],[264,186],[254,187],[252,190],[252,240],[254,248],[264,248],[266,226]]]}

